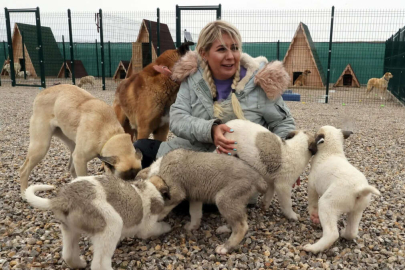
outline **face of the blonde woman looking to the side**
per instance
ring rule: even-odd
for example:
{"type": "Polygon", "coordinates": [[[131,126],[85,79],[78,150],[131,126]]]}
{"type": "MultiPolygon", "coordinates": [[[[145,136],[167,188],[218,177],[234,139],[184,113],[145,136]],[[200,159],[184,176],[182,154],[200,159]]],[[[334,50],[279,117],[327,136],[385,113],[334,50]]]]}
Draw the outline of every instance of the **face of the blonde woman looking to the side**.
{"type": "Polygon", "coordinates": [[[240,51],[238,45],[228,34],[222,35],[222,41],[216,40],[208,52],[202,52],[203,59],[211,69],[212,76],[218,80],[232,78],[239,67],[240,51]]]}

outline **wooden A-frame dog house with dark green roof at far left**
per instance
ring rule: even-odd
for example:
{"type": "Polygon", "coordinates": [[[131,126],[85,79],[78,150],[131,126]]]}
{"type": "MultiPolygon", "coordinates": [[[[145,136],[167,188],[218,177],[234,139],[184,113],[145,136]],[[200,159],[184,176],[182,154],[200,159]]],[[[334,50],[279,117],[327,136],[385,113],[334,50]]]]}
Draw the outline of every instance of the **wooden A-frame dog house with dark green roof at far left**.
{"type": "MultiPolygon", "coordinates": [[[[42,45],[44,51],[45,76],[56,76],[63,58],[56,43],[51,28],[41,26],[42,45]]],[[[29,71],[32,77],[40,76],[40,65],[38,55],[37,26],[15,23],[12,37],[14,62],[21,65],[21,70],[29,71]],[[24,35],[24,44],[22,44],[24,35]],[[23,47],[24,56],[23,58],[23,47]]]]}

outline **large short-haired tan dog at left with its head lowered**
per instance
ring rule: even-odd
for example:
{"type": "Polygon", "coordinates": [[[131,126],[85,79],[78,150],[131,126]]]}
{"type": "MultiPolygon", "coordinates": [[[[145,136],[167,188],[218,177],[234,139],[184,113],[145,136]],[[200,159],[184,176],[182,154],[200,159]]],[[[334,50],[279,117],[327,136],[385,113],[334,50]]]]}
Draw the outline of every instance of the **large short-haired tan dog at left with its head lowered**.
{"type": "Polygon", "coordinates": [[[117,121],[112,108],[73,85],[50,87],[34,100],[30,121],[30,145],[20,169],[21,192],[31,170],[45,157],[52,136],[69,147],[73,177],[87,175],[87,162],[99,157],[117,177],[134,179],[141,169],[142,154],[117,121]]]}

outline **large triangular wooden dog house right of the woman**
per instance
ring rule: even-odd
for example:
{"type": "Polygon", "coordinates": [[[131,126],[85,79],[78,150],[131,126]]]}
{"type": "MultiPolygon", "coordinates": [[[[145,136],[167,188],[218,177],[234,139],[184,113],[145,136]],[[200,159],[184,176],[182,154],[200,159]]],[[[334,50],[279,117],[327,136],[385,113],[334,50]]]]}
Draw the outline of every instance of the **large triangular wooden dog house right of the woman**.
{"type": "Polygon", "coordinates": [[[326,85],[326,77],[315,44],[308,26],[304,23],[301,22],[298,25],[283,62],[292,79],[290,86],[294,85],[298,76],[307,69],[311,73],[307,77],[305,86],[324,87],[326,85]]]}

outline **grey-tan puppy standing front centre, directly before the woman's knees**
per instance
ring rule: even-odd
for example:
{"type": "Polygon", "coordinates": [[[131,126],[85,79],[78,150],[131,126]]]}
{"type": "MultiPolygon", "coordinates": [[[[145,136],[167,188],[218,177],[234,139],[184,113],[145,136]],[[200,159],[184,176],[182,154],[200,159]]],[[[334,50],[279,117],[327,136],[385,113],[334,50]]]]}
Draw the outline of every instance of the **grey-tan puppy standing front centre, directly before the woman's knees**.
{"type": "MultiPolygon", "coordinates": [[[[246,205],[256,192],[267,185],[263,177],[240,159],[215,153],[177,149],[142,170],[136,179],[159,177],[170,189],[171,200],[165,201],[163,219],[176,205],[190,201],[191,221],[187,230],[200,226],[203,203],[215,203],[232,229],[230,238],[216,248],[226,254],[237,246],[248,230],[246,205]]],[[[226,229],[218,228],[218,232],[226,229]]]]}

